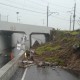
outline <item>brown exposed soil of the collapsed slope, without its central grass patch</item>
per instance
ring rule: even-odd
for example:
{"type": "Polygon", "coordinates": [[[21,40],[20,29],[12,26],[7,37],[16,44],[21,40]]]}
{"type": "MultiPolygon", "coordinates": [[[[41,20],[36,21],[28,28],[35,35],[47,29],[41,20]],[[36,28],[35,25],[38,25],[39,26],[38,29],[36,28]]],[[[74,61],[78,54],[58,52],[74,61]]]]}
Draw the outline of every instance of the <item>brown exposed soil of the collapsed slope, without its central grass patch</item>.
{"type": "MultiPolygon", "coordinates": [[[[80,70],[80,35],[72,35],[71,32],[54,31],[53,38],[49,43],[52,48],[59,45],[60,48],[53,51],[45,51],[41,55],[36,53],[35,60],[44,61],[45,58],[58,57],[64,61],[64,66],[72,70],[80,70]],[[79,45],[74,49],[73,45],[79,45]]],[[[40,47],[41,47],[40,46],[40,47]]],[[[39,48],[39,47],[38,47],[39,48]]],[[[36,48],[37,50],[37,48],[36,48]]]]}

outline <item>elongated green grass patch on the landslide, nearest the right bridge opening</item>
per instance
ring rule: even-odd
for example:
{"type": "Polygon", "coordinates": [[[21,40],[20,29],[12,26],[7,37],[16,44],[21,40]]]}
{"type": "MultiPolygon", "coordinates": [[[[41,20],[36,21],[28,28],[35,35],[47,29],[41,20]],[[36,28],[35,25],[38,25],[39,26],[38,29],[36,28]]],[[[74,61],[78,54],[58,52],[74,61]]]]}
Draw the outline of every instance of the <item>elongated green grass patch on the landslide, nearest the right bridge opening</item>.
{"type": "Polygon", "coordinates": [[[44,46],[40,46],[36,49],[36,53],[38,55],[42,55],[45,51],[56,51],[61,49],[60,45],[57,45],[55,47],[52,46],[52,44],[46,44],[44,46]]]}

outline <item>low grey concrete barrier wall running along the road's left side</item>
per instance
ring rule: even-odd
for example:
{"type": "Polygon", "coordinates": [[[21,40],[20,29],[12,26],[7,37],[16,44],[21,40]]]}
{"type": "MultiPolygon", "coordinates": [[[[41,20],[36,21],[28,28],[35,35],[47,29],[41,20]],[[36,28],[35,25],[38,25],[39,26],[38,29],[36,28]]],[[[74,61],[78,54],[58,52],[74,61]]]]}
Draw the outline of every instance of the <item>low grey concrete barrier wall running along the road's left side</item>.
{"type": "Polygon", "coordinates": [[[21,51],[17,57],[8,62],[0,69],[0,80],[9,80],[18,68],[19,60],[24,56],[24,51],[21,51]]]}

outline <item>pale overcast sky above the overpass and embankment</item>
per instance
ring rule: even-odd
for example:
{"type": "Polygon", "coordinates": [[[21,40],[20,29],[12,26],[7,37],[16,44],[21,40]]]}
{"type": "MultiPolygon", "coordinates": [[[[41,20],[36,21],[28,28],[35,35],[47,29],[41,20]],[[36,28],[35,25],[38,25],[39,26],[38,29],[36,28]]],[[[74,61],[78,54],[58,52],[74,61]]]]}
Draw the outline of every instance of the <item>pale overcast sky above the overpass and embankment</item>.
{"type": "MultiPolygon", "coordinates": [[[[49,26],[62,30],[69,30],[70,13],[74,10],[75,0],[0,0],[1,20],[17,22],[17,14],[20,23],[46,26],[47,5],[49,13],[58,12],[49,16],[49,26]]],[[[76,0],[76,25],[75,29],[80,28],[80,0],[76,0]]]]}

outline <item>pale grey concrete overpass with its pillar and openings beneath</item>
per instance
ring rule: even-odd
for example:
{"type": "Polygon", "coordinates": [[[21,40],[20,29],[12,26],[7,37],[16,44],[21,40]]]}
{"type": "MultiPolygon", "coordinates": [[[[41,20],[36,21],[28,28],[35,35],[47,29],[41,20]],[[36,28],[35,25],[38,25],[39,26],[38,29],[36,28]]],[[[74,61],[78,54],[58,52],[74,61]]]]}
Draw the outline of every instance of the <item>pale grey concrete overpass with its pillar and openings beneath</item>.
{"type": "Polygon", "coordinates": [[[0,22],[0,53],[16,47],[17,43],[25,44],[29,49],[36,40],[39,43],[49,41],[50,30],[50,27],[0,22]]]}

